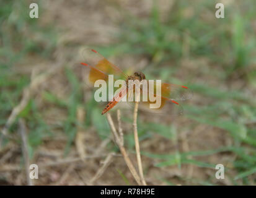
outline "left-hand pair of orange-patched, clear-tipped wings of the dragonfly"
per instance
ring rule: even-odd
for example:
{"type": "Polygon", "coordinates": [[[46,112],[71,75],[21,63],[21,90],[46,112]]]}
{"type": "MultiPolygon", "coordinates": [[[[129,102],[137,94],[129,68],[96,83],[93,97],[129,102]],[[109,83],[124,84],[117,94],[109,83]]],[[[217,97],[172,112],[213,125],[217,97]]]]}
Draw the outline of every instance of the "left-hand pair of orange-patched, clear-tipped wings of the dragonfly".
{"type": "Polygon", "coordinates": [[[94,49],[83,49],[82,55],[86,62],[81,62],[81,64],[90,68],[89,81],[92,84],[99,79],[107,81],[110,74],[114,75],[115,79],[126,79],[127,75],[119,67],[94,49]]]}

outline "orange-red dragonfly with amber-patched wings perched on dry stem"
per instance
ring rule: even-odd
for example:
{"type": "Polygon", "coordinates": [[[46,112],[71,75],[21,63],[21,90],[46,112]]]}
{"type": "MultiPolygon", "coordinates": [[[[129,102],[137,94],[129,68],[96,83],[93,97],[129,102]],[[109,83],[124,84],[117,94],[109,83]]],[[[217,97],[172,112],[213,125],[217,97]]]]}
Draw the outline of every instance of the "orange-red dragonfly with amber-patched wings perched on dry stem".
{"type": "MultiPolygon", "coordinates": [[[[108,81],[108,75],[113,75],[115,79],[124,79],[126,82],[128,80],[145,80],[146,76],[143,72],[134,72],[132,75],[125,74],[119,67],[115,66],[112,62],[108,61],[104,56],[102,56],[95,49],[83,49],[82,56],[85,62],[81,62],[83,66],[89,68],[89,82],[94,85],[96,80],[108,81]]],[[[123,97],[128,95],[128,92],[134,92],[131,90],[133,87],[123,87],[113,98],[113,100],[108,101],[102,114],[107,113],[114,106],[116,106],[123,97]]],[[[154,92],[156,91],[156,82],[154,82],[154,92]]],[[[141,91],[142,92],[142,91],[141,91]]],[[[143,90],[145,92],[145,90],[143,90]]],[[[149,90],[146,90],[149,94],[149,90]]],[[[175,85],[161,82],[161,95],[154,96],[161,98],[161,106],[157,110],[166,109],[167,114],[182,114],[183,108],[180,105],[180,101],[188,100],[192,98],[193,92],[188,87],[183,85],[175,85]],[[169,107],[168,107],[169,106],[169,107]]],[[[144,109],[149,109],[149,105],[154,103],[152,101],[140,101],[144,109]]],[[[140,105],[141,106],[141,105],[140,105]]],[[[156,109],[154,109],[157,111],[156,109]]],[[[153,110],[153,111],[154,111],[153,110]]]]}

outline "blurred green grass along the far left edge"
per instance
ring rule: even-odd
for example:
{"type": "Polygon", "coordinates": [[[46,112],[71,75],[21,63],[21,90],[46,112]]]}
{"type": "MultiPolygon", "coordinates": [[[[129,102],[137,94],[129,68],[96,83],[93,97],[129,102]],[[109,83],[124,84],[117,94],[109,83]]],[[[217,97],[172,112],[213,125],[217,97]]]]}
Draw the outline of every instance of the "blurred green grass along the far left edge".
{"type": "MultiPolygon", "coordinates": [[[[43,27],[37,20],[30,19],[25,1],[0,2],[0,125],[3,127],[12,109],[20,103],[22,90],[29,85],[30,76],[20,75],[15,68],[29,56],[51,58],[56,46],[56,32],[53,25],[43,27]],[[37,35],[37,38],[33,37],[37,35]]],[[[17,120],[24,118],[31,131],[29,134],[30,156],[41,144],[42,138],[51,136],[50,126],[43,122],[37,104],[31,99],[16,118],[10,131],[17,131],[17,120]]],[[[7,139],[4,139],[5,142],[7,139]]]]}

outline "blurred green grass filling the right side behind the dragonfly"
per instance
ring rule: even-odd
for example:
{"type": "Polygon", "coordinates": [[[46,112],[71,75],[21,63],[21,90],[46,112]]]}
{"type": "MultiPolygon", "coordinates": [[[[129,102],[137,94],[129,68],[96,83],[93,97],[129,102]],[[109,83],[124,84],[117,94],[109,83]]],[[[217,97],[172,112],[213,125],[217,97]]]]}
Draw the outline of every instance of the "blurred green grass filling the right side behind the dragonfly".
{"type": "MultiPolygon", "coordinates": [[[[255,2],[248,1],[243,4],[246,12],[242,9],[234,12],[236,8],[231,5],[225,8],[226,19],[203,20],[200,15],[210,7],[212,9],[213,2],[193,5],[187,1],[175,1],[172,11],[169,11],[168,19],[162,22],[159,18],[159,9],[155,4],[148,19],[139,19],[127,14],[127,22],[123,25],[123,32],[120,35],[120,43],[102,48],[103,52],[110,51],[117,56],[130,53],[149,57],[152,62],[145,69],[145,72],[148,72],[147,76],[161,77],[163,80],[172,77],[172,82],[178,82],[178,84],[182,82],[175,78],[175,71],[180,69],[180,60],[205,57],[210,62],[210,65],[205,68],[208,67],[209,71],[214,70],[213,74],[219,80],[219,85],[222,85],[212,87],[207,82],[205,84],[188,83],[194,95],[200,95],[202,100],[210,101],[210,103],[200,106],[184,105],[185,116],[198,124],[206,124],[229,132],[234,145],[216,150],[174,152],[170,155],[144,153],[148,157],[161,160],[155,166],[182,166],[188,163],[214,168],[213,164],[191,160],[188,157],[232,152],[237,155],[233,162],[234,169],[237,171],[233,183],[237,184],[236,180],[242,179],[243,184],[250,184],[246,177],[255,173],[256,133],[255,127],[247,125],[247,121],[255,121],[256,103],[250,95],[245,93],[245,89],[255,88],[256,82],[255,78],[253,79],[255,77],[253,68],[256,49],[255,33],[250,25],[251,20],[255,18],[252,5],[255,6],[255,2]],[[194,9],[195,14],[186,19],[182,13],[188,6],[194,9]],[[185,37],[187,37],[187,45],[190,46],[187,53],[183,52],[185,37]],[[164,67],[169,61],[174,67],[164,67]],[[229,87],[228,84],[232,84],[231,77],[236,76],[239,76],[239,80],[246,84],[246,87],[224,90],[225,87],[229,87]]],[[[193,76],[188,76],[188,78],[193,79],[193,76]]],[[[204,78],[207,79],[207,77],[204,78]]],[[[160,134],[167,139],[174,139],[169,125],[139,123],[138,126],[140,140],[152,138],[153,133],[160,134]]],[[[128,135],[126,140],[130,149],[133,148],[133,137],[128,135]]],[[[198,181],[199,183],[212,184],[212,181],[198,181]]]]}

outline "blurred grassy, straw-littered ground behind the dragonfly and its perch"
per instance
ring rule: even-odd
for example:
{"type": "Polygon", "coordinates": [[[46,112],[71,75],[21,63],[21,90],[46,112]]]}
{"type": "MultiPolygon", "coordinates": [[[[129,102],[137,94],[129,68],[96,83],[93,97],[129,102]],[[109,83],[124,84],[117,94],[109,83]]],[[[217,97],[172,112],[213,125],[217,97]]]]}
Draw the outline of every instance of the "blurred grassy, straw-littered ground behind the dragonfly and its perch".
{"type": "MultiPolygon", "coordinates": [[[[183,116],[138,115],[148,184],[255,185],[255,8],[254,0],[0,1],[0,184],[26,185],[28,159],[39,168],[35,185],[136,184],[101,115],[105,104],[86,86],[86,46],[127,74],[193,90],[183,116]],[[38,19],[29,17],[32,2],[38,19]],[[218,2],[224,19],[215,17],[218,2]],[[217,164],[225,179],[216,179],[217,164]]],[[[132,110],[121,111],[136,165],[132,120],[132,110]]]]}

